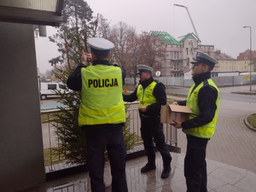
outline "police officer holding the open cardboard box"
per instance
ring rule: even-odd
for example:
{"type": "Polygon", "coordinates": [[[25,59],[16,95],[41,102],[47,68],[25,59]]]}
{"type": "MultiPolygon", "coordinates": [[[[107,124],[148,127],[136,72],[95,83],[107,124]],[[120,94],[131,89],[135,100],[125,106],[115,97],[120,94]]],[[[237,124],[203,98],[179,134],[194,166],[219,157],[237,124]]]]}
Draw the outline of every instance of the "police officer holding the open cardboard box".
{"type": "Polygon", "coordinates": [[[192,113],[183,122],[174,121],[177,129],[182,128],[187,136],[187,152],[184,160],[184,176],[187,192],[207,192],[206,149],[208,140],[215,131],[218,119],[219,90],[211,79],[211,71],[217,60],[198,52],[191,62],[195,84],[189,90],[186,101],[173,104],[186,105],[192,113]]]}

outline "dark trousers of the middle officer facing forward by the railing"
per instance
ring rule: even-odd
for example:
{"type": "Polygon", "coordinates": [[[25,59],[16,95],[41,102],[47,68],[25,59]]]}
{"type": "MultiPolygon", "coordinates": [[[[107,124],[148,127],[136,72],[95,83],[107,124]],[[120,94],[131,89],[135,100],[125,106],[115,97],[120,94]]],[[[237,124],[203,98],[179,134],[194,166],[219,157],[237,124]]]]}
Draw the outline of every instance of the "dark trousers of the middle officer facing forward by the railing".
{"type": "Polygon", "coordinates": [[[171,169],[170,164],[172,161],[172,156],[166,144],[163,124],[160,124],[160,116],[155,115],[147,117],[140,113],[140,119],[141,134],[143,138],[143,145],[148,157],[148,163],[150,165],[155,165],[155,143],[156,148],[159,150],[162,156],[164,168],[171,169]]]}

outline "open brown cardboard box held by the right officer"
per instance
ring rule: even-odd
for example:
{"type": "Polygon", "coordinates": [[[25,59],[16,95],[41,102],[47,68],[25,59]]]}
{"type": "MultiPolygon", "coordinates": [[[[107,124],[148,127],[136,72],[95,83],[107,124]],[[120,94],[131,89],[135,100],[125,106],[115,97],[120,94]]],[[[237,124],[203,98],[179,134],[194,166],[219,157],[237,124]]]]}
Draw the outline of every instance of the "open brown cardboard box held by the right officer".
{"type": "Polygon", "coordinates": [[[173,124],[172,119],[182,122],[189,119],[189,113],[192,113],[192,111],[187,106],[166,104],[161,107],[160,113],[161,123],[173,124]]]}

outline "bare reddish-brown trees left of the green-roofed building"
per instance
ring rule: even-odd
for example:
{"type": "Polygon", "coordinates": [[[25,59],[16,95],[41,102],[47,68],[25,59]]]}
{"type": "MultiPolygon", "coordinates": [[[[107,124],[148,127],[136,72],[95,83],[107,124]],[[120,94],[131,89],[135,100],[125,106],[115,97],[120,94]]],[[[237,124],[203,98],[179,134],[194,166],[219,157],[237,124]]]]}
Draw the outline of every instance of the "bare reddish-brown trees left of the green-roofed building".
{"type": "Polygon", "coordinates": [[[109,38],[115,44],[113,60],[124,67],[127,76],[136,84],[137,65],[144,64],[160,70],[160,62],[165,60],[164,44],[150,32],[137,34],[135,28],[119,22],[109,31],[109,38]]]}

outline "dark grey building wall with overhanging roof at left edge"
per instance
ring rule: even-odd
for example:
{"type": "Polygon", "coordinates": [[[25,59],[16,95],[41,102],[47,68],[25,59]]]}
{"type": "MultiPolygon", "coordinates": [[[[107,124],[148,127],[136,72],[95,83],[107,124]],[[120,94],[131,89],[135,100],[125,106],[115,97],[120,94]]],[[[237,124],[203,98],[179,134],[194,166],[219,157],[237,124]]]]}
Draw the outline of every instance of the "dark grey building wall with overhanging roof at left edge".
{"type": "Polygon", "coordinates": [[[29,2],[0,1],[0,191],[46,179],[34,30],[60,24],[63,0],[29,2]]]}

